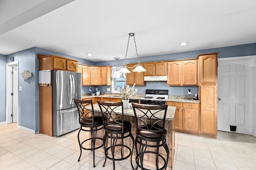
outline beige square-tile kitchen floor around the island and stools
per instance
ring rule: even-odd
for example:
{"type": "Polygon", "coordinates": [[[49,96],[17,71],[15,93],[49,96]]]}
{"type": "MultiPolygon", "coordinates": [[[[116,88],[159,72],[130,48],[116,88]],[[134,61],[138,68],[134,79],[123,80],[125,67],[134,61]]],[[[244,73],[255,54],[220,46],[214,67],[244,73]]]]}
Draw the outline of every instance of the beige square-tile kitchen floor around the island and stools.
{"type": "MultiPolygon", "coordinates": [[[[20,130],[17,123],[0,125],[0,170],[112,170],[109,160],[102,168],[99,151],[95,168],[90,151],[77,161],[77,133],[49,137],[20,130]]],[[[217,139],[175,133],[175,140],[174,170],[256,170],[256,137],[218,131],[217,139]]],[[[116,170],[130,169],[128,160],[116,162],[116,170]]]]}

